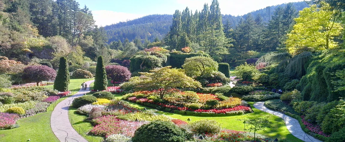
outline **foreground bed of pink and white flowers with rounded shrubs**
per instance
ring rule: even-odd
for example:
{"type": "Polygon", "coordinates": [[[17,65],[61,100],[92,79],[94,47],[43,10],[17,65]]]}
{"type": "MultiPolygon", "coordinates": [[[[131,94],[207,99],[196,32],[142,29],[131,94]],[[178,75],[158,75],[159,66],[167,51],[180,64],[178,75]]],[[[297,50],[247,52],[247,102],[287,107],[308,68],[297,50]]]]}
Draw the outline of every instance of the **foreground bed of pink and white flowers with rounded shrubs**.
{"type": "MultiPolygon", "coordinates": [[[[84,98],[90,100],[92,96],[88,96],[84,98]]],[[[215,120],[204,119],[187,123],[186,121],[160,114],[157,110],[133,108],[124,100],[115,99],[106,101],[101,99],[97,98],[97,101],[79,107],[76,113],[88,116],[84,121],[90,122],[93,126],[88,132],[89,135],[102,136],[106,142],[136,141],[138,138],[147,139],[147,136],[139,136],[140,131],[147,128],[148,125],[152,125],[152,123],[165,124],[169,128],[164,129],[162,127],[165,126],[162,125],[158,128],[155,128],[156,125],[148,127],[148,129],[165,130],[157,131],[155,136],[149,136],[149,139],[152,141],[154,141],[153,139],[165,140],[167,139],[167,135],[174,135],[173,137],[176,141],[190,142],[200,141],[200,135],[203,136],[204,140],[217,142],[239,142],[254,139],[254,134],[250,132],[222,129],[220,124],[215,120]]],[[[80,102],[84,101],[80,100],[80,102]]],[[[78,102],[74,101],[73,103],[78,102]]],[[[260,134],[256,134],[255,140],[258,142],[273,141],[260,134]]]]}

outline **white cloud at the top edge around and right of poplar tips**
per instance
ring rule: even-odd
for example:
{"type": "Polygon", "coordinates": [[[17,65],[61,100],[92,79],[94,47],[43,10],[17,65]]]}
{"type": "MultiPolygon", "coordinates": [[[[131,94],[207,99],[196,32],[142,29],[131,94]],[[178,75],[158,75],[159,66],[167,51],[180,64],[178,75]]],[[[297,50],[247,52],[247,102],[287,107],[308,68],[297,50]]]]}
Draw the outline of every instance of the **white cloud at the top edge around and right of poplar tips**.
{"type": "MultiPolygon", "coordinates": [[[[195,11],[202,10],[204,3],[211,5],[212,0],[176,0],[183,7],[187,7],[195,11]]],[[[267,6],[275,6],[282,3],[298,2],[303,0],[218,0],[220,11],[222,14],[244,15],[249,12],[266,8],[267,6]]]]}

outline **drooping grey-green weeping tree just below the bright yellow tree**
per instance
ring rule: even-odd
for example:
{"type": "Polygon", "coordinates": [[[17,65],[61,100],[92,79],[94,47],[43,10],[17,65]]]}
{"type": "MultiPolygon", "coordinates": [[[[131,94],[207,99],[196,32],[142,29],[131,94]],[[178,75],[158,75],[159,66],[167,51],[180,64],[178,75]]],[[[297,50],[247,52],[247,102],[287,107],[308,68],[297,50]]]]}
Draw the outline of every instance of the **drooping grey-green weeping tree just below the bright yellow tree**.
{"type": "Polygon", "coordinates": [[[276,68],[277,73],[285,73],[293,78],[301,78],[306,74],[307,63],[313,58],[311,52],[303,52],[290,59],[280,62],[276,68]]]}

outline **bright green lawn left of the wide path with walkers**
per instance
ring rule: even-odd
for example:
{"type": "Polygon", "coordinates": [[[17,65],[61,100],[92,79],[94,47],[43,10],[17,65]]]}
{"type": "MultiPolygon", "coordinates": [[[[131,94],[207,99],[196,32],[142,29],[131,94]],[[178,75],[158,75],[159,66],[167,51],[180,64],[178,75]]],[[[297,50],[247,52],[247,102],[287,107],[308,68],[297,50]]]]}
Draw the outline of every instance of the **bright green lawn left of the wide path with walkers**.
{"type": "MultiPolygon", "coordinates": [[[[71,79],[68,86],[72,94],[79,90],[80,84],[88,79],[71,79]]],[[[52,85],[46,86],[53,88],[52,85]]],[[[59,99],[57,103],[66,98],[59,99]]],[[[33,142],[59,142],[50,127],[50,116],[55,107],[54,104],[48,107],[47,112],[39,113],[32,117],[19,119],[19,128],[0,130],[0,142],[26,142],[30,139],[33,142]]]]}

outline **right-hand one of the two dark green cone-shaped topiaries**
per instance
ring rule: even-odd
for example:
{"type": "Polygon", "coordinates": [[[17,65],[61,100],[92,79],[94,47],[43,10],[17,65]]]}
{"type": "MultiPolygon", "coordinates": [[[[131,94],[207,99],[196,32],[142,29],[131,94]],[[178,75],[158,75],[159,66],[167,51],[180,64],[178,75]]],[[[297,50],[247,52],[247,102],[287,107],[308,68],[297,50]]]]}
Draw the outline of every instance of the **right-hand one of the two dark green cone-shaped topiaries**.
{"type": "Polygon", "coordinates": [[[106,90],[108,85],[106,68],[104,67],[103,56],[99,56],[97,59],[95,83],[93,85],[94,90],[106,90]]]}

